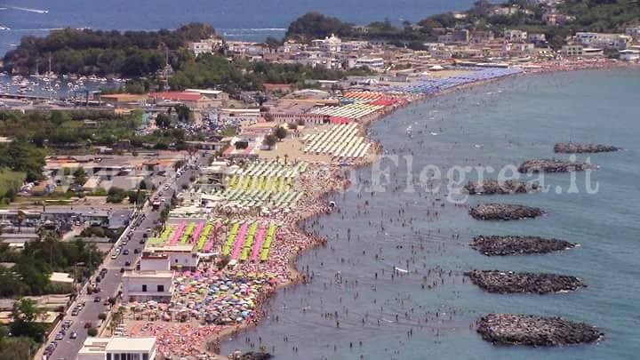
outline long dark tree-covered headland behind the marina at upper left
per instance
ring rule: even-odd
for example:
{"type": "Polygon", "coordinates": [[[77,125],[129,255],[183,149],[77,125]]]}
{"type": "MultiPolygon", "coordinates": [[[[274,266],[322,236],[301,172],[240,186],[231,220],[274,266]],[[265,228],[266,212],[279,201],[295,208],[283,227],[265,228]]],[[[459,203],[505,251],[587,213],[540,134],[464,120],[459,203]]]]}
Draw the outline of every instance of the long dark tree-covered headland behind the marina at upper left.
{"type": "Polygon", "coordinates": [[[56,74],[145,76],[164,68],[165,50],[177,68],[190,55],[181,50],[189,41],[215,35],[215,29],[192,23],[175,31],[102,31],[65,28],[49,36],[25,36],[4,55],[6,71],[31,74],[49,55],[56,74]]]}

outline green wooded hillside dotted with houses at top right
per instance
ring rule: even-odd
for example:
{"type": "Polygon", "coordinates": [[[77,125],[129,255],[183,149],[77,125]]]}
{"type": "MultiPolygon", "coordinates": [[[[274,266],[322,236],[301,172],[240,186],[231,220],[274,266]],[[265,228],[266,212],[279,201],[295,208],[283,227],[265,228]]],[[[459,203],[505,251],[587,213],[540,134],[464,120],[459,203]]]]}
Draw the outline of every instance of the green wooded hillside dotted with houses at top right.
{"type": "Polygon", "coordinates": [[[436,14],[415,25],[404,22],[403,27],[396,27],[384,20],[358,28],[318,12],[308,12],[291,23],[286,38],[310,41],[335,34],[343,38],[385,39],[392,44],[421,48],[423,43],[436,40],[443,28],[492,30],[497,35],[506,28],[519,28],[544,33],[553,47],[559,47],[564,44],[566,36],[576,31],[621,32],[625,25],[640,20],[640,3],[637,0],[567,0],[557,10],[575,17],[575,20],[560,26],[548,25],[543,20],[546,11],[544,5],[524,0],[510,0],[505,4],[480,0],[471,9],[462,12],[463,16],[436,14]],[[512,15],[496,15],[493,12],[498,7],[512,5],[518,6],[520,12],[512,15]]]}

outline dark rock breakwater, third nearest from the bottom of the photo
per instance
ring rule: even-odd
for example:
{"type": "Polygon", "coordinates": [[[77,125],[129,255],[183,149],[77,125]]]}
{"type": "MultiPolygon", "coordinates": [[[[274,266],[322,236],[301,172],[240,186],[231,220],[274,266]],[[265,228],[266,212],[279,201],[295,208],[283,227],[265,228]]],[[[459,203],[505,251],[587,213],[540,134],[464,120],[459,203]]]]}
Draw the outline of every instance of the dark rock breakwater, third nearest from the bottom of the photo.
{"type": "Polygon", "coordinates": [[[476,236],[471,247],[487,256],[559,252],[576,244],[539,236],[476,236]]]}

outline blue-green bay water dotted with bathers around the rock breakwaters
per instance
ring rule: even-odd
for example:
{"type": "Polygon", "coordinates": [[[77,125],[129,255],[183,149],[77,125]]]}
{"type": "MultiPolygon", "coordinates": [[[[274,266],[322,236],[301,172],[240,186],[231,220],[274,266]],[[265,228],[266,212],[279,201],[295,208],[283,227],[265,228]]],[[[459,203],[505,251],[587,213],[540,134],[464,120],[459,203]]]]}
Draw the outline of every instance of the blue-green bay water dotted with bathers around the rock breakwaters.
{"type": "MultiPolygon", "coordinates": [[[[426,164],[444,170],[452,164],[517,166],[528,158],[554,156],[553,144],[565,140],[612,144],[625,151],[591,155],[602,166],[592,174],[600,186],[595,195],[586,193],[584,174],[579,174],[578,194],[470,199],[470,204],[540,206],[548,215],[537,220],[476,221],[466,206],[442,207],[436,198],[444,194],[404,193],[403,164],[392,168],[388,192],[335,196],[340,213],[308,223],[330,239],[326,248],[299,260],[300,269],[314,272],[313,283],[277,295],[268,307],[269,318],[257,330],[224,343],[224,352],[247,350],[245,338],[257,344],[260,337],[269,349],[275,347],[277,359],[636,358],[638,93],[637,69],[518,76],[428,100],[374,124],[372,135],[386,152],[413,154],[414,171],[426,164]],[[409,125],[411,139],[405,130],[409,125]],[[489,258],[468,247],[478,234],[555,236],[581,246],[541,256],[489,258]],[[410,274],[392,279],[394,267],[410,274]],[[461,273],[471,268],[563,273],[579,276],[588,288],[545,296],[489,294],[463,281],[461,273]],[[339,272],[341,284],[335,280],[339,272]],[[322,316],[336,311],[340,327],[335,317],[322,316]],[[605,337],[579,347],[494,347],[472,329],[477,317],[490,312],[565,316],[600,327],[605,337]]],[[[358,175],[371,179],[368,168],[358,175]]],[[[545,181],[553,189],[569,188],[568,174],[548,175],[545,181]]]]}

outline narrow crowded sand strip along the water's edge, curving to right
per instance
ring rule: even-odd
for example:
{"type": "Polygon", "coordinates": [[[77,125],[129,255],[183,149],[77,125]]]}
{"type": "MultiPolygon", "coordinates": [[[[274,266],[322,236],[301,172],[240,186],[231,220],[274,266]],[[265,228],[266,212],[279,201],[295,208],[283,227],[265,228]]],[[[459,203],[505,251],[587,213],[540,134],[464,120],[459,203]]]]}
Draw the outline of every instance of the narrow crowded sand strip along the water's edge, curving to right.
{"type": "MultiPolygon", "coordinates": [[[[396,111],[401,108],[408,108],[412,105],[420,105],[423,103],[423,101],[426,101],[438,96],[449,95],[449,94],[460,92],[460,91],[467,91],[468,89],[472,89],[472,88],[475,88],[484,84],[489,84],[492,82],[497,82],[497,81],[503,80],[504,78],[512,77],[512,76],[515,77],[515,76],[548,74],[550,72],[556,72],[556,71],[564,72],[564,71],[577,71],[577,70],[589,70],[589,69],[602,70],[602,69],[628,68],[628,67],[640,68],[636,66],[636,64],[628,64],[620,61],[580,62],[579,64],[577,64],[577,66],[571,67],[571,68],[562,67],[562,68],[553,68],[553,69],[549,69],[549,68],[534,69],[532,71],[524,71],[522,73],[518,73],[514,75],[501,76],[499,78],[481,80],[481,81],[477,81],[469,84],[462,84],[462,85],[455,86],[450,89],[446,89],[444,91],[436,92],[432,94],[420,94],[420,95],[409,94],[409,95],[405,95],[407,99],[406,101],[399,102],[398,104],[394,105],[393,107],[389,107],[388,109],[383,109],[380,111],[380,113],[375,114],[375,116],[370,116],[358,124],[360,125],[360,132],[364,133],[364,136],[366,136],[367,140],[371,141],[372,144],[377,145],[377,147],[376,146],[373,147],[374,148],[373,151],[377,154],[380,154],[383,151],[383,144],[380,142],[380,140],[372,139],[372,137],[368,135],[369,128],[370,126],[372,126],[372,124],[374,124],[374,122],[380,121],[380,119],[383,119],[386,116],[395,114],[396,111]]],[[[298,234],[302,236],[307,236],[308,239],[311,239],[312,241],[309,241],[308,244],[306,244],[306,246],[303,246],[303,247],[297,246],[294,252],[286,254],[286,269],[290,273],[290,276],[289,276],[290,279],[288,281],[284,281],[279,284],[276,284],[275,286],[269,286],[266,289],[266,291],[263,294],[264,301],[257,302],[256,307],[254,309],[257,315],[260,314],[262,316],[260,315],[256,316],[256,318],[251,319],[251,321],[245,322],[244,324],[236,324],[235,326],[223,326],[223,328],[219,332],[216,332],[211,336],[205,337],[203,339],[203,342],[198,344],[198,348],[200,348],[203,351],[203,353],[210,354],[210,356],[213,355],[212,358],[214,359],[228,359],[227,355],[223,355],[223,354],[215,353],[211,351],[210,346],[212,344],[216,344],[218,349],[220,349],[220,344],[222,344],[224,341],[232,340],[229,338],[236,338],[240,333],[246,332],[248,330],[251,330],[254,327],[259,326],[263,317],[266,317],[265,305],[264,305],[265,302],[268,302],[268,300],[272,299],[276,295],[276,293],[279,290],[282,290],[283,288],[292,288],[294,285],[306,284],[307,281],[312,280],[312,278],[308,277],[308,275],[304,274],[298,269],[297,263],[300,256],[303,254],[303,252],[306,252],[317,246],[326,245],[326,238],[324,237],[316,238],[314,236],[311,236],[310,234],[304,231],[301,225],[307,220],[313,219],[314,217],[319,217],[322,214],[322,212],[330,213],[329,211],[330,207],[328,204],[332,201],[332,196],[335,196],[336,193],[339,193],[340,188],[346,188],[348,186],[348,179],[342,176],[342,173],[345,170],[353,171],[370,164],[372,164],[372,160],[370,158],[353,163],[353,164],[348,164],[347,166],[344,166],[344,167],[340,167],[340,165],[336,164],[335,162],[330,162],[322,166],[318,164],[310,164],[308,172],[301,175],[300,183],[304,183],[305,180],[307,180],[305,178],[308,177],[308,174],[310,172],[313,172],[311,171],[311,169],[313,169],[314,171],[317,171],[318,169],[316,169],[316,167],[325,167],[329,170],[326,178],[328,180],[332,180],[330,182],[330,187],[324,188],[322,191],[312,193],[310,194],[311,196],[300,199],[300,203],[297,206],[300,208],[306,208],[308,210],[305,210],[303,212],[298,212],[295,215],[285,216],[283,228],[291,228],[293,231],[297,232],[298,234]]],[[[174,323],[174,324],[185,324],[185,323],[174,323]]],[[[244,349],[244,350],[250,351],[249,349],[244,349]]],[[[266,350],[268,351],[268,348],[266,350]]]]}

